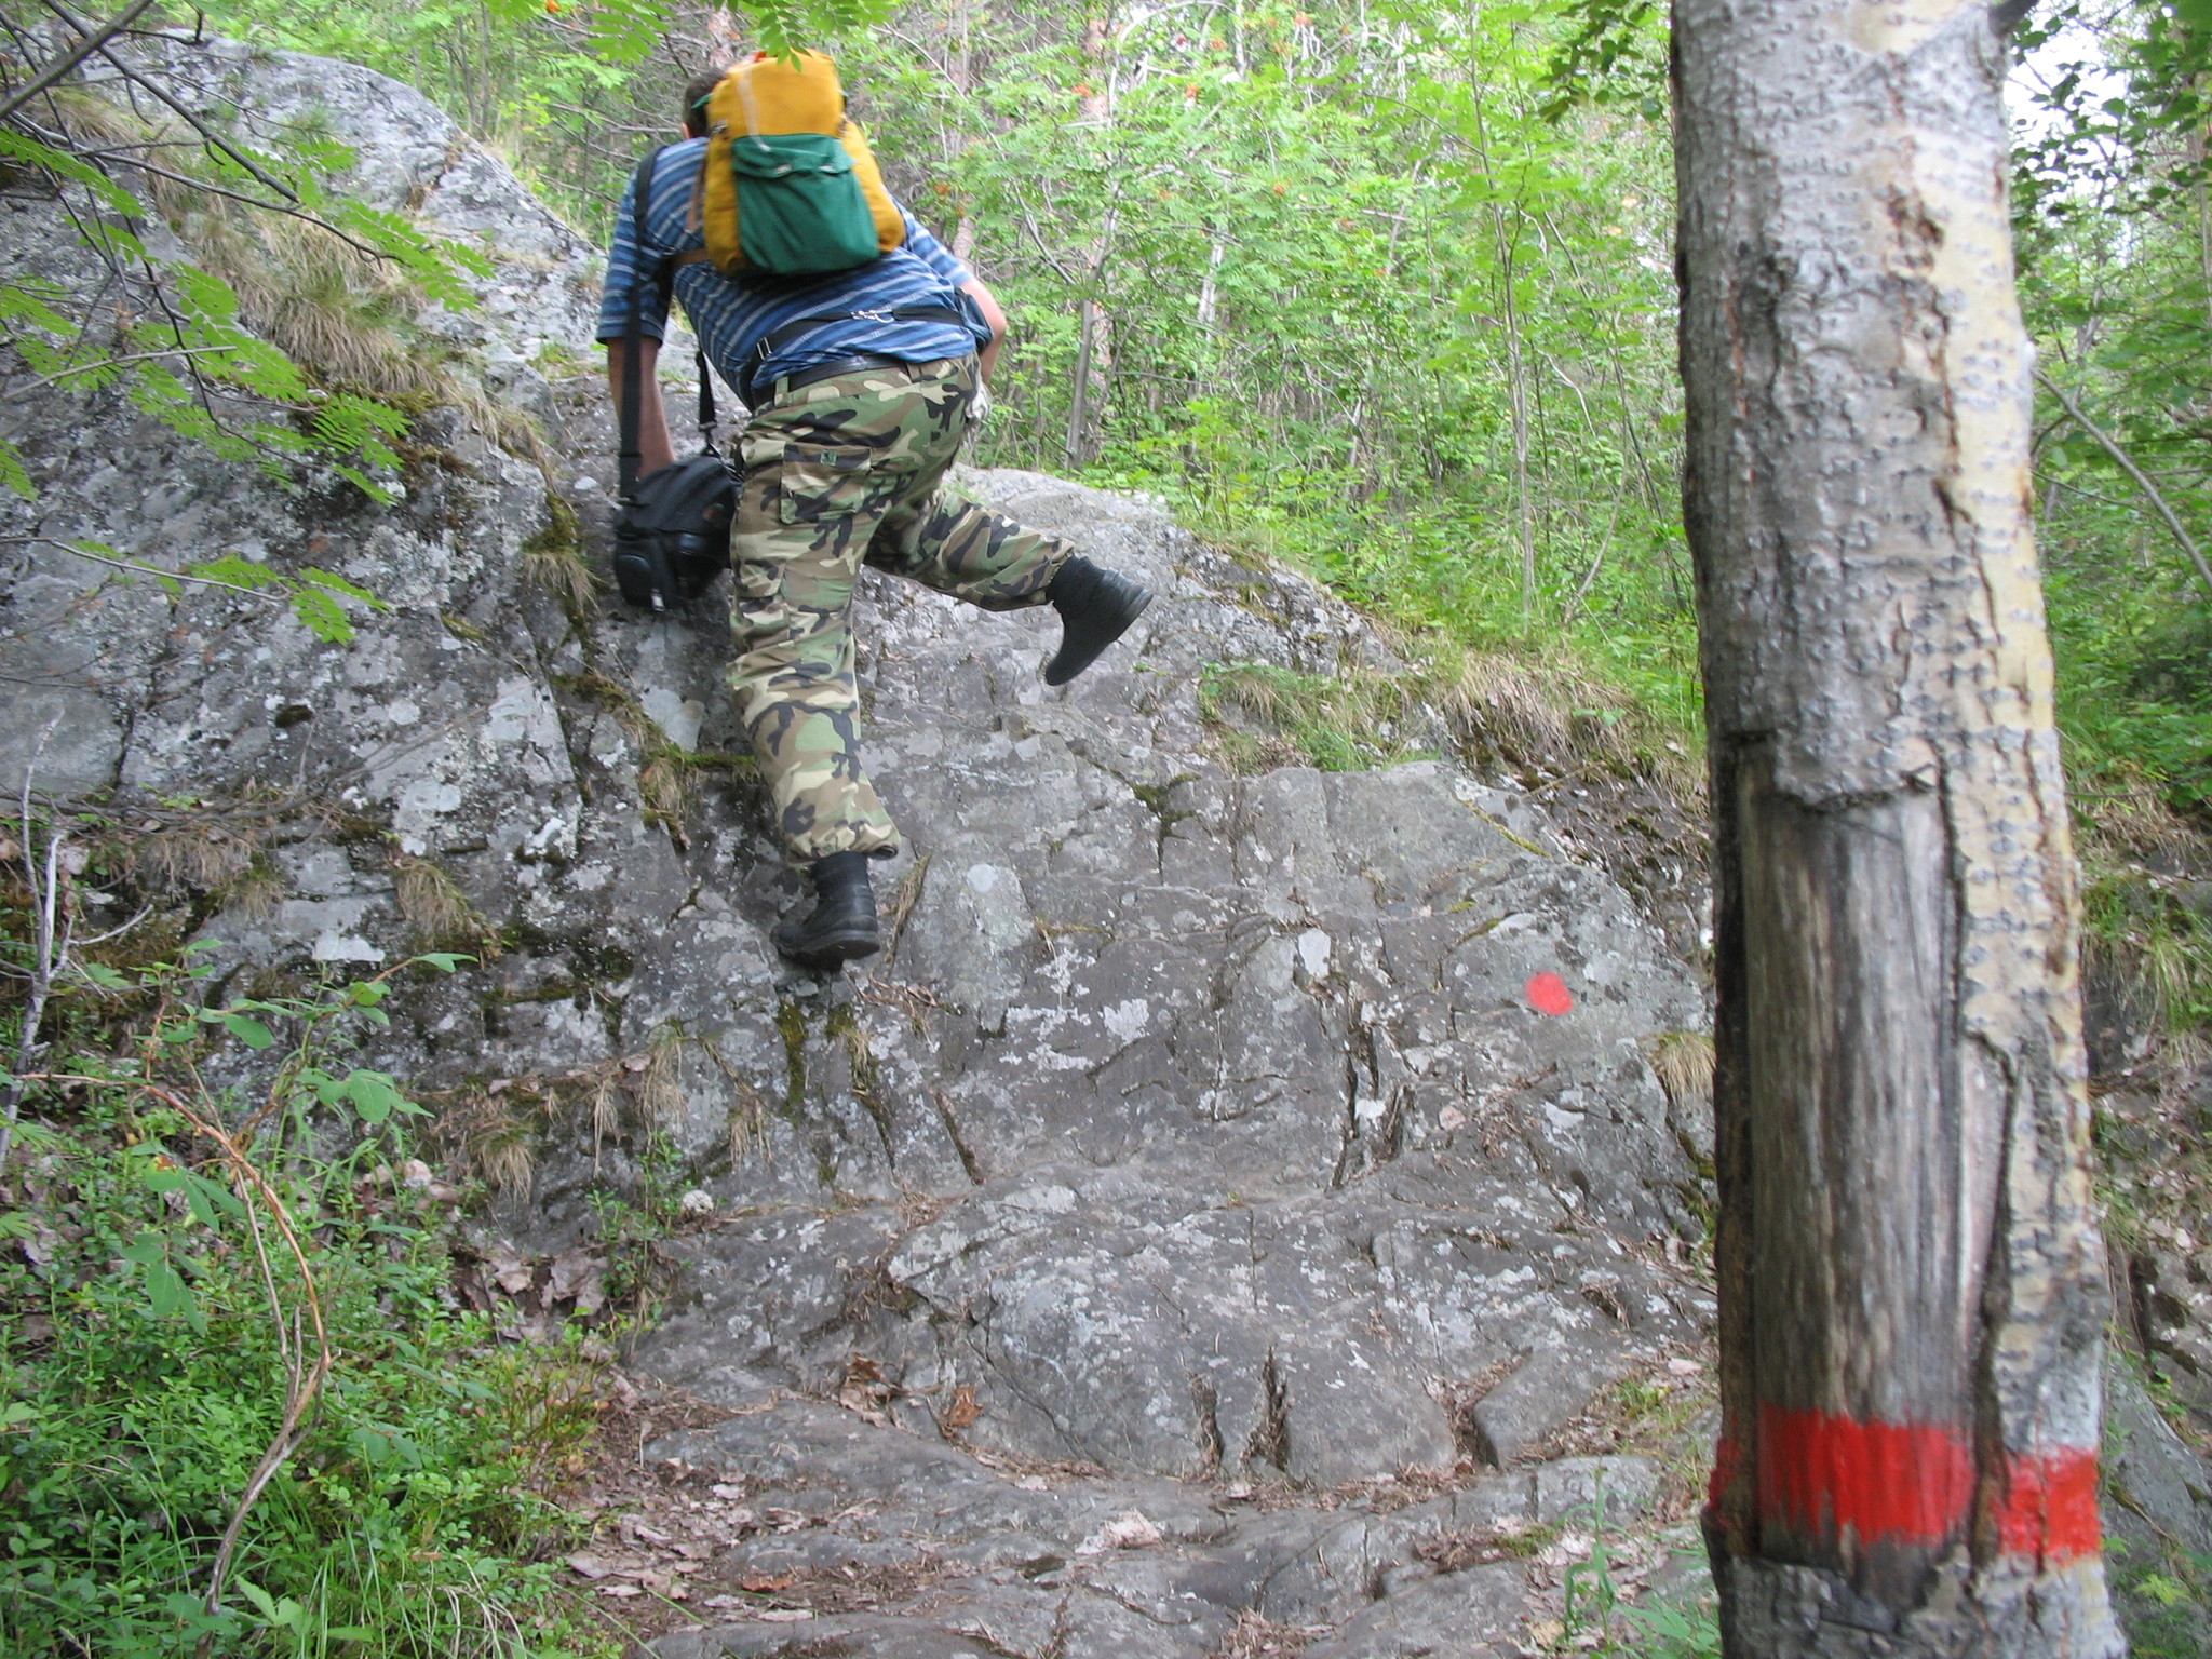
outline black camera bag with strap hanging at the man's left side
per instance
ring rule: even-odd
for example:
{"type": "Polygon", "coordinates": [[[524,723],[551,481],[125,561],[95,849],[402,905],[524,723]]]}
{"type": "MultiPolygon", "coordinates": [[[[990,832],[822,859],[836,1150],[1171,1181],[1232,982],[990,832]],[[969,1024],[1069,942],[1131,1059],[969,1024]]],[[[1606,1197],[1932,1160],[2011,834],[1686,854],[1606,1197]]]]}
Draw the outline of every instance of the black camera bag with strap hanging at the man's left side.
{"type": "MultiPolygon", "coordinates": [[[[639,270],[630,283],[630,323],[622,352],[622,511],[615,515],[615,586],[635,606],[668,611],[697,599],[730,564],[730,518],[737,513],[737,476],[714,453],[714,380],[699,352],[699,438],[690,460],[659,467],[644,478],[637,467],[639,409],[644,403],[639,294],[646,261],[646,208],[653,197],[653,150],[633,181],[633,232],[639,270]]],[[[653,283],[666,294],[668,259],[653,263],[653,283]]],[[[655,394],[659,389],[655,387],[655,394]]]]}

